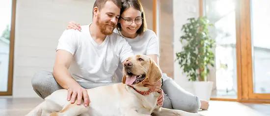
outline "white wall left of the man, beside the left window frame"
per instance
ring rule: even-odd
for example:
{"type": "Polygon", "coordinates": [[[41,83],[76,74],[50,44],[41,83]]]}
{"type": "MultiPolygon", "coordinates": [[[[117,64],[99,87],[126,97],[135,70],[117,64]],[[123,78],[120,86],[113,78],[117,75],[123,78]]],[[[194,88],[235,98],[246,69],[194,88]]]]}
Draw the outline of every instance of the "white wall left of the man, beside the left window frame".
{"type": "Polygon", "coordinates": [[[94,0],[17,0],[13,97],[38,97],[31,78],[52,70],[58,38],[69,21],[92,21],[94,0]]]}

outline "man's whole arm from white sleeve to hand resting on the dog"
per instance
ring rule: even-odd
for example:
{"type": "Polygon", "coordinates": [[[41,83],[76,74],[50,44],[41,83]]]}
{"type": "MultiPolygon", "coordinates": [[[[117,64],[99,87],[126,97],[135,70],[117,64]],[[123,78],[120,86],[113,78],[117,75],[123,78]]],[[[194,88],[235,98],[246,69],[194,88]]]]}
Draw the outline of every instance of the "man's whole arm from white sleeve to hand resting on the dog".
{"type": "Polygon", "coordinates": [[[73,55],[75,54],[80,39],[78,39],[75,30],[65,30],[58,40],[58,46],[56,51],[56,58],[54,62],[53,75],[56,82],[68,90],[67,100],[71,103],[75,103],[77,98],[77,105],[81,104],[81,100],[84,100],[84,106],[88,106],[90,103],[87,90],[75,81],[70,72],[69,67],[72,62],[73,55]]]}

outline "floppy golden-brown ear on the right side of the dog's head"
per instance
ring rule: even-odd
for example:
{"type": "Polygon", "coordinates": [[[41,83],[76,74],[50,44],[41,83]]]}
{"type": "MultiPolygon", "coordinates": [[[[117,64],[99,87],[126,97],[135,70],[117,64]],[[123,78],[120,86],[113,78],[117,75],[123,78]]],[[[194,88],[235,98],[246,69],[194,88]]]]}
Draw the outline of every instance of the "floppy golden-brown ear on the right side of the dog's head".
{"type": "Polygon", "coordinates": [[[152,58],[150,58],[150,66],[147,73],[147,78],[150,83],[156,83],[162,78],[162,71],[152,58]]]}

